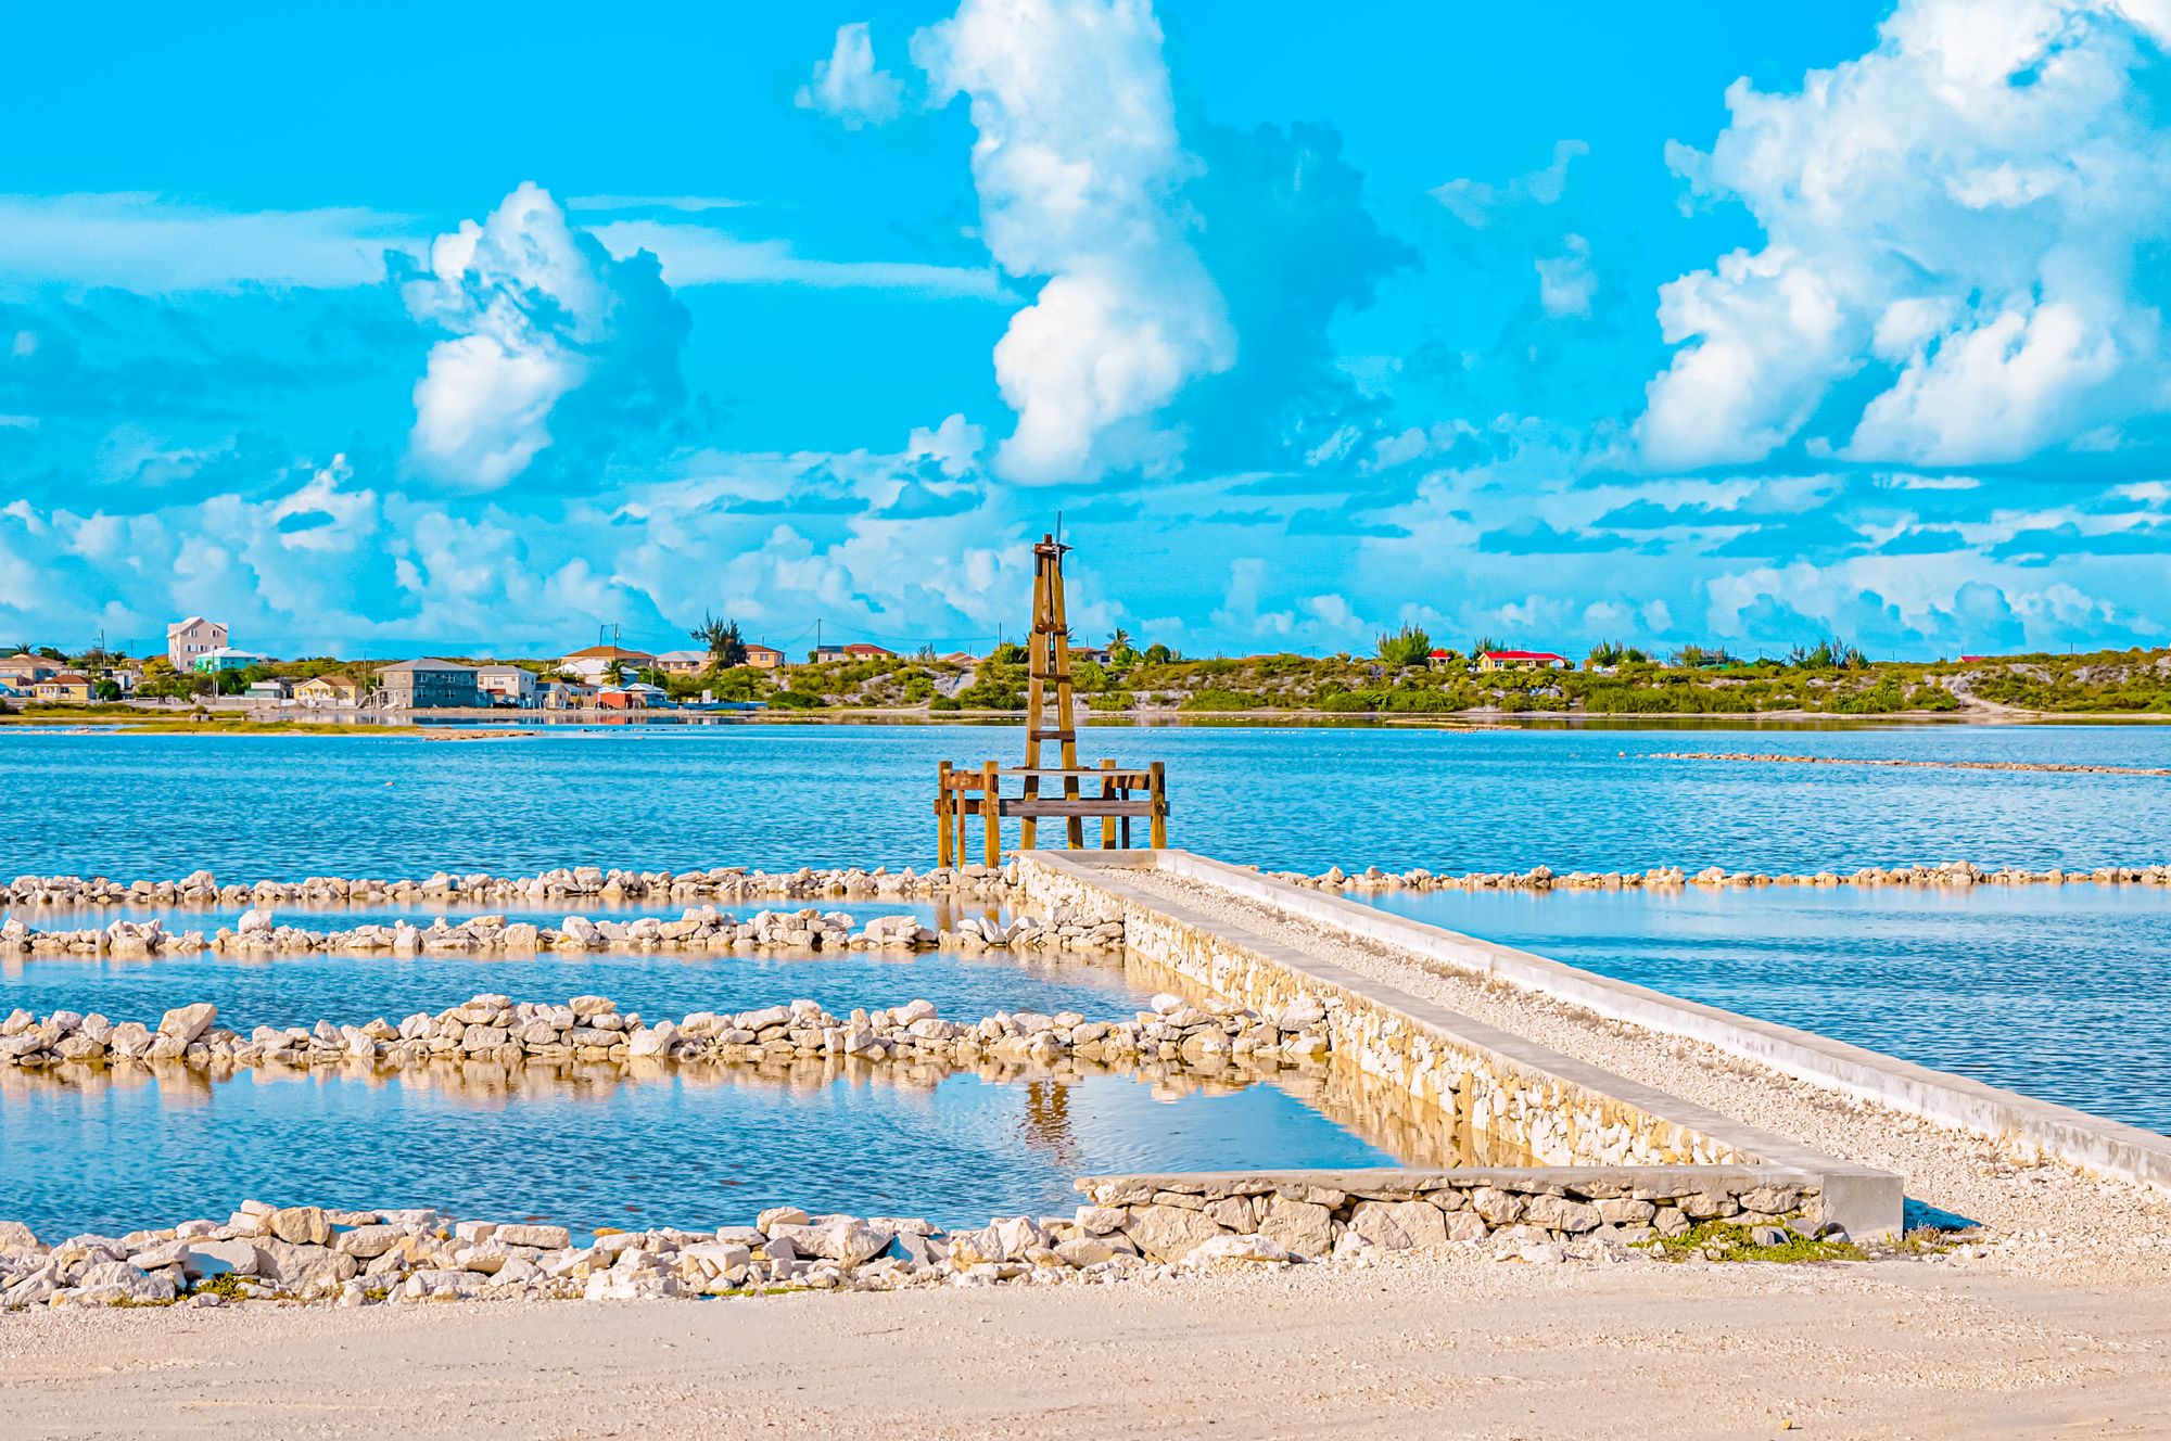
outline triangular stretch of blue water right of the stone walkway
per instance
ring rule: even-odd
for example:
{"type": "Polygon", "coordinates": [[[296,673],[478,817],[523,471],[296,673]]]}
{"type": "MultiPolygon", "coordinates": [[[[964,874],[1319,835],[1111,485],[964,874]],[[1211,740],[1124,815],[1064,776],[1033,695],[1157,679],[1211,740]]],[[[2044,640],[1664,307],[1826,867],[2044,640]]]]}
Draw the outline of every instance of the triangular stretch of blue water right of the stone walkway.
{"type": "Polygon", "coordinates": [[[2171,890],[1442,890],[1372,903],[2171,1131],[2171,890]]]}

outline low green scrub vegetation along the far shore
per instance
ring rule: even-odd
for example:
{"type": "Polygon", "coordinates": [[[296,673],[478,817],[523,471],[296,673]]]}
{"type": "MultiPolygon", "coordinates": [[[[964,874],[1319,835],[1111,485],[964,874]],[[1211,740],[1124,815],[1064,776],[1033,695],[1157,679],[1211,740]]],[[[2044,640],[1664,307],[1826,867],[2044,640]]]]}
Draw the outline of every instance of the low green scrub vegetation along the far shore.
{"type": "MultiPolygon", "coordinates": [[[[1023,645],[992,655],[866,655],[808,660],[773,671],[747,664],[747,647],[729,621],[706,621],[697,632],[710,664],[697,675],[645,671],[640,679],[673,701],[766,703],[775,710],[925,710],[1016,712],[1025,707],[1027,653],[1023,645]]],[[[1939,662],[1871,660],[1839,638],[1817,638],[1785,655],[1741,658],[1724,647],[1685,645],[1654,655],[1633,645],[1602,640],[1580,664],[1518,668],[1485,664],[1500,645],[1487,636],[1468,651],[1420,627],[1381,636],[1374,655],[1244,655],[1185,658],[1166,645],[1138,647],[1116,632],[1099,653],[1072,660],[1072,688],[1092,714],[1179,712],[1240,714],[1348,714],[1348,716],[1910,716],[1963,710],[2026,710],[2047,714],[2154,714],[2171,716],[2171,651],[2097,651],[2089,655],[2004,655],[1939,662]]],[[[512,662],[538,677],[554,675],[551,660],[512,662]]],[[[306,679],[345,673],[369,681],[367,668],[334,658],[308,658],[230,671],[219,677],[176,675],[163,660],[143,671],[139,697],[202,697],[213,684],[221,694],[271,675],[306,679]]],[[[59,723],[87,718],[145,720],[126,705],[20,703],[0,707],[0,720],[59,723]]],[[[198,710],[193,725],[252,725],[230,712],[198,710]]]]}

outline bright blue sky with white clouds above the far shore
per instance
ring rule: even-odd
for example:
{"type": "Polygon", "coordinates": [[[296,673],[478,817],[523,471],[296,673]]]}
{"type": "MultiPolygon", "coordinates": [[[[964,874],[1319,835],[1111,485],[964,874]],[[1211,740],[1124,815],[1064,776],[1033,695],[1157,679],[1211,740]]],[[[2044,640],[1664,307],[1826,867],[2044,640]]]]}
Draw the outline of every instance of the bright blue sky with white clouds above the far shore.
{"type": "Polygon", "coordinates": [[[317,11],[13,17],[0,638],[2164,640],[2164,0],[317,11]]]}

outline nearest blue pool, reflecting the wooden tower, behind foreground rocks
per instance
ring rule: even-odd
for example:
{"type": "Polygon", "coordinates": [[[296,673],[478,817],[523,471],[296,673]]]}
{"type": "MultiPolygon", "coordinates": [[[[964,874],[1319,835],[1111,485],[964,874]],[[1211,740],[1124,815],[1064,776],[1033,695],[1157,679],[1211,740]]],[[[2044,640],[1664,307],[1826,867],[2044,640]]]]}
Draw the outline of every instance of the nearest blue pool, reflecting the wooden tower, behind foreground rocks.
{"type": "Polygon", "coordinates": [[[903,1089],[703,1068],[651,1081],[447,1089],[332,1076],[0,1089],[0,1217],[41,1237],[276,1204],[439,1207],[595,1226],[751,1224],[773,1204],[986,1224],[1068,1213],[1092,1172],[1392,1165],[1274,1085],[1170,1094],[1129,1076],[903,1089]]]}

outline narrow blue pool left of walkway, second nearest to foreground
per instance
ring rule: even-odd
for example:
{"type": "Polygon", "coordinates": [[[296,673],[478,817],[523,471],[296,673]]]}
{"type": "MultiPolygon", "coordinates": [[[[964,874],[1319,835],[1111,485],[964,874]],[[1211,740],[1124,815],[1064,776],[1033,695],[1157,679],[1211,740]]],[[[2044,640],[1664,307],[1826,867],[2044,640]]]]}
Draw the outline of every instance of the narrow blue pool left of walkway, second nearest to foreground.
{"type": "Polygon", "coordinates": [[[0,1016],[24,1007],[102,1011],[150,1026],[178,1005],[211,1000],[219,1024],[310,1026],[319,1020],[393,1024],[443,1011],[469,996],[567,1000],[610,996],[621,1011],[677,1020],[693,1011],[753,1011],[816,1000],[831,1016],[929,1000],[944,1020],[975,1022],[994,1011],[1081,1011],[1122,1020],[1153,992],[1125,979],[1120,959],[1012,957],[1003,951],[838,951],[821,955],[543,953],[512,959],[421,955],[291,955],[234,959],[35,957],[0,961],[0,1016]]]}

